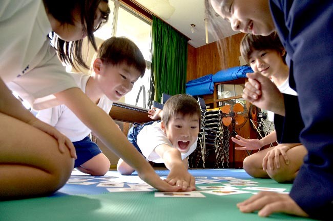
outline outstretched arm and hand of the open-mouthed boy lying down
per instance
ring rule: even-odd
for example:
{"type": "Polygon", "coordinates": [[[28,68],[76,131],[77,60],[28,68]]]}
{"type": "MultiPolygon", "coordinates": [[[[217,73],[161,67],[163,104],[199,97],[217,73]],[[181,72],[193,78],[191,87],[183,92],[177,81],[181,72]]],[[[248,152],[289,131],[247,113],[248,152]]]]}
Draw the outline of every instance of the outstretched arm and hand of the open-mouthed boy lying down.
{"type": "Polygon", "coordinates": [[[187,160],[181,159],[180,152],[167,144],[156,146],[155,152],[163,159],[170,173],[166,181],[171,185],[181,187],[184,191],[195,190],[195,178],[188,171],[187,160]]]}

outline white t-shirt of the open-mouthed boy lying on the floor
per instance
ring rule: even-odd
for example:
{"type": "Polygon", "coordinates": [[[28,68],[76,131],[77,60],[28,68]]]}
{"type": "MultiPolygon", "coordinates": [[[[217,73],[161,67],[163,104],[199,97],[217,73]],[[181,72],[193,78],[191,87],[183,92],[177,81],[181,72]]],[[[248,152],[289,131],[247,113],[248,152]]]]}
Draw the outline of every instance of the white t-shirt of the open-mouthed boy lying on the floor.
{"type": "MultiPolygon", "coordinates": [[[[172,143],[166,137],[166,134],[161,129],[161,122],[153,122],[151,125],[144,126],[137,136],[137,144],[145,158],[155,163],[163,163],[162,158],[155,152],[156,146],[167,144],[172,146],[172,143]]],[[[181,159],[185,159],[192,154],[197,148],[195,142],[187,153],[181,153],[181,159]]]]}

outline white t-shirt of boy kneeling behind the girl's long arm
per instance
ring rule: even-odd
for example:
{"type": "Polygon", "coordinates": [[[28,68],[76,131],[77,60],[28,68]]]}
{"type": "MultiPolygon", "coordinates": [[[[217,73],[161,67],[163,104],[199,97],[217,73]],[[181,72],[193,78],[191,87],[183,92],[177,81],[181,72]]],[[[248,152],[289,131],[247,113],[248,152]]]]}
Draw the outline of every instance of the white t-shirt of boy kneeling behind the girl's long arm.
{"type": "MultiPolygon", "coordinates": [[[[75,82],[81,90],[86,93],[86,85],[90,76],[84,75],[83,73],[71,73],[71,75],[74,77],[75,82]]],[[[99,99],[97,106],[109,113],[112,107],[112,101],[110,101],[106,95],[103,95],[99,99]]],[[[37,113],[36,117],[54,126],[72,142],[84,139],[91,132],[66,105],[41,110],[37,113]]]]}

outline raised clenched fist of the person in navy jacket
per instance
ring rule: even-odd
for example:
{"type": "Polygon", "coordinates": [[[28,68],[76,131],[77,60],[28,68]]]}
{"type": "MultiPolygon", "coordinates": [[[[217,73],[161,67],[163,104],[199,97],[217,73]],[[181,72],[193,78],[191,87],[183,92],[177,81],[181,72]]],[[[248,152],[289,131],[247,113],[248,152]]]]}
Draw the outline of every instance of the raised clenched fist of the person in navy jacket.
{"type": "Polygon", "coordinates": [[[248,82],[245,83],[243,99],[255,106],[285,115],[284,98],[276,85],[261,73],[247,73],[248,82]]]}

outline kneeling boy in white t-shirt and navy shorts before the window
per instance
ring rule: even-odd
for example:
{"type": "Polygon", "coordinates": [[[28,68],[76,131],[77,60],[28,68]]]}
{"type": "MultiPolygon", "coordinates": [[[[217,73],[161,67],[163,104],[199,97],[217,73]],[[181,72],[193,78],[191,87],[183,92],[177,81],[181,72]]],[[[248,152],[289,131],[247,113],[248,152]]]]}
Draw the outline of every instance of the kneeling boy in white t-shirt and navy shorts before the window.
{"type": "MultiPolygon", "coordinates": [[[[144,75],[145,60],[131,40],[111,37],[98,48],[92,70],[92,76],[82,73],[72,73],[72,76],[81,90],[109,113],[112,103],[131,91],[134,83],[144,75]]],[[[110,169],[109,159],[88,137],[91,130],[66,105],[41,110],[36,117],[73,142],[76,169],[93,176],[103,176],[110,169]]]]}

